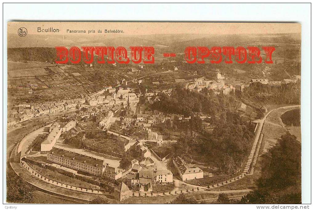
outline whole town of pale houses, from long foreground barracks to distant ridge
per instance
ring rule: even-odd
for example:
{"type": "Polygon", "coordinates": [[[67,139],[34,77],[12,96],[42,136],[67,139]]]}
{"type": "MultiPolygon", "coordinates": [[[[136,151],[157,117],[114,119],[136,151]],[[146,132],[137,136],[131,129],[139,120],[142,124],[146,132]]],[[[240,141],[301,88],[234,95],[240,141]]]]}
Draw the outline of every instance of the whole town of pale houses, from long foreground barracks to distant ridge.
{"type": "MultiPolygon", "coordinates": [[[[142,69],[143,65],[140,68],[142,69]]],[[[178,67],[175,66],[173,71],[178,71],[178,67]]],[[[195,72],[195,74],[197,73],[195,72]]],[[[135,79],[135,81],[140,85],[143,80],[135,79]]],[[[228,82],[225,75],[217,69],[214,80],[206,77],[188,80],[174,79],[173,84],[181,84],[184,89],[193,92],[207,89],[213,90],[214,94],[229,95],[237,91],[242,92],[252,83],[280,86],[298,81],[300,81],[300,76],[293,76],[281,81],[257,78],[246,82],[228,82]]],[[[152,85],[159,84],[160,82],[152,82],[152,85]]],[[[34,91],[30,89],[28,93],[32,95],[34,91]]],[[[151,193],[153,196],[153,193],[159,195],[158,192],[163,192],[165,195],[165,191],[158,190],[158,188],[165,187],[169,189],[169,195],[171,195],[175,189],[175,179],[182,183],[181,186],[186,186],[184,183],[187,181],[213,177],[212,173],[205,173],[200,167],[191,166],[184,160],[184,157],[171,154],[171,152],[161,155],[154,151],[156,147],[175,142],[175,140],[165,138],[164,133],[156,131],[155,126],[169,126],[174,121],[191,119],[191,116],[145,109],[148,105],[160,101],[159,93],[171,96],[172,89],[142,94],[128,87],[126,79],[122,79],[122,81],[116,81],[116,86],[104,87],[82,98],[14,105],[8,109],[8,127],[14,127],[27,120],[36,120],[38,117],[62,113],[59,120],[47,125],[39,136],[30,140],[29,146],[20,148],[20,162],[28,170],[33,170],[30,169],[31,166],[36,165],[92,183],[95,186],[94,189],[86,189],[86,192],[106,195],[109,192],[117,201],[134,197],[135,192],[138,197],[141,193],[145,193],[145,195],[151,193]],[[140,103],[141,97],[144,101],[140,103]],[[121,132],[121,130],[132,128],[140,129],[142,135],[136,136],[121,132]],[[119,151],[110,151],[93,147],[93,144],[74,148],[64,143],[64,139],[71,138],[86,141],[87,135],[91,131],[114,135],[116,138],[122,139],[123,148],[119,151]],[[151,144],[154,144],[153,148],[150,146],[151,144]],[[138,158],[132,157],[127,166],[122,168],[121,158],[128,151],[132,151],[132,156],[138,158]],[[42,158],[43,156],[45,158],[42,158]],[[171,160],[171,165],[173,164],[172,167],[167,166],[169,160],[171,160]]],[[[246,105],[242,104],[241,106],[245,107],[246,105]]],[[[261,107],[261,109],[267,113],[266,107],[261,107]]],[[[202,120],[207,118],[206,116],[200,117],[202,120]]],[[[37,173],[40,174],[40,172],[37,173]]],[[[246,173],[247,171],[244,175],[246,173]]],[[[48,177],[43,177],[41,175],[41,179],[47,183],[52,181],[48,177]]],[[[52,183],[54,182],[52,181],[52,183]]],[[[69,185],[67,184],[67,186],[69,185]]],[[[212,185],[212,187],[215,186],[212,185]]],[[[75,187],[75,189],[84,191],[83,187],[75,187]]],[[[194,192],[199,187],[192,189],[194,192]]]]}

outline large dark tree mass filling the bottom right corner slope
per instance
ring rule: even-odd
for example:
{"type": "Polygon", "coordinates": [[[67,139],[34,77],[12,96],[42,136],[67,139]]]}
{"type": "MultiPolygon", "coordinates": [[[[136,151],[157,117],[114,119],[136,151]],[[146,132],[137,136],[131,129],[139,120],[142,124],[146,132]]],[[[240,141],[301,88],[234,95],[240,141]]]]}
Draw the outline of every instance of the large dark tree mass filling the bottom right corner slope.
{"type": "Polygon", "coordinates": [[[282,135],[268,156],[257,181],[258,189],[243,196],[241,203],[301,203],[300,142],[290,133],[282,135]]]}

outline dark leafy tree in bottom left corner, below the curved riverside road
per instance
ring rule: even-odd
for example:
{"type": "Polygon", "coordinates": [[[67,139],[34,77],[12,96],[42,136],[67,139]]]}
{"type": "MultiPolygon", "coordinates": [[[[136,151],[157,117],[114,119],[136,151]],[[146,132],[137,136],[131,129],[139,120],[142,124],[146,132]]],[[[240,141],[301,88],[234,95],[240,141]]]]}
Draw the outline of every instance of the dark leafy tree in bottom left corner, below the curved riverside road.
{"type": "Polygon", "coordinates": [[[34,201],[34,188],[12,170],[7,171],[7,202],[31,203],[34,201]]]}

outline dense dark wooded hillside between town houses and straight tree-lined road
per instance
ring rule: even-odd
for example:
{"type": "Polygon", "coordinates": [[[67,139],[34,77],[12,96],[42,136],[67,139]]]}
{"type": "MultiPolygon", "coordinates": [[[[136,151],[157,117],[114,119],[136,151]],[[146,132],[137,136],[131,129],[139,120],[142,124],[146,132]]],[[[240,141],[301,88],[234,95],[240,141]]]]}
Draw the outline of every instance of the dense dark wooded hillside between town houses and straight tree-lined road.
{"type": "Polygon", "coordinates": [[[175,123],[182,138],[174,145],[180,156],[197,154],[204,162],[210,162],[223,173],[235,173],[249,153],[254,136],[254,127],[247,119],[236,113],[236,99],[233,94],[215,95],[212,90],[200,93],[175,89],[171,96],[159,94],[160,101],[154,102],[153,109],[165,113],[192,116],[189,122],[175,123]],[[210,116],[212,131],[204,129],[204,121],[196,113],[210,116]]]}

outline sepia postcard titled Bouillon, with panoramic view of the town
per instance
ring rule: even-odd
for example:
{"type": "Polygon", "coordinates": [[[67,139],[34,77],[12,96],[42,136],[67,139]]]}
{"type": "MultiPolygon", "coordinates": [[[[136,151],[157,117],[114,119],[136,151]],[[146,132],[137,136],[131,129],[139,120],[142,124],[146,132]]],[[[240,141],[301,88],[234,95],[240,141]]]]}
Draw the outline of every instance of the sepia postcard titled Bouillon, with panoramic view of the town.
{"type": "Polygon", "coordinates": [[[6,202],[302,202],[300,23],[7,31],[6,202]]]}

